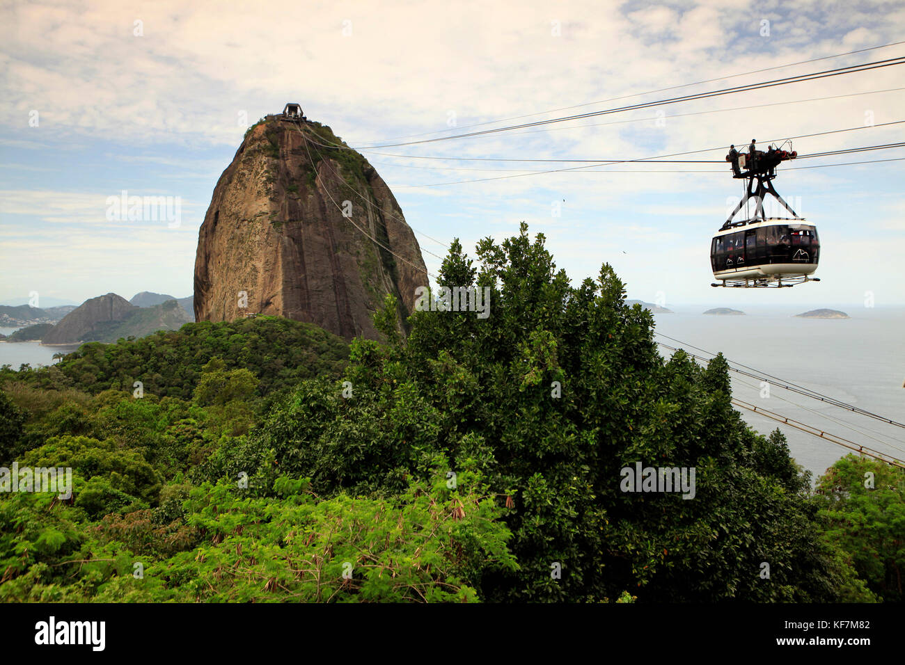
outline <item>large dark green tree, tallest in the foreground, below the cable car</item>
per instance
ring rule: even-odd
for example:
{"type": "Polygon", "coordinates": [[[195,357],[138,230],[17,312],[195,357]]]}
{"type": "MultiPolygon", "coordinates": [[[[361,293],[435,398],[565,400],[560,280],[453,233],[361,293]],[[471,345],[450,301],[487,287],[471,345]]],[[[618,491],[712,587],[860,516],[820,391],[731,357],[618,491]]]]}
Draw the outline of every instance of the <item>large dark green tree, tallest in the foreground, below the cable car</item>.
{"type": "Polygon", "coordinates": [[[625,304],[610,266],[573,287],[524,225],[478,257],[453,242],[430,297],[487,289],[488,317],[416,311],[400,337],[378,316],[389,344],[353,342],[351,394],[304,383],[208,472],[246,470],[265,493],[279,469],[322,496],[393,496],[438,454],[451,472],[480,470],[512,507],[519,562],[481,575],[493,600],[842,599],[852,571],[819,539],[785,441],[732,409],[724,358],[664,362],[651,314],[625,304]],[[636,462],[695,469],[694,499],[625,493],[636,462]]]}

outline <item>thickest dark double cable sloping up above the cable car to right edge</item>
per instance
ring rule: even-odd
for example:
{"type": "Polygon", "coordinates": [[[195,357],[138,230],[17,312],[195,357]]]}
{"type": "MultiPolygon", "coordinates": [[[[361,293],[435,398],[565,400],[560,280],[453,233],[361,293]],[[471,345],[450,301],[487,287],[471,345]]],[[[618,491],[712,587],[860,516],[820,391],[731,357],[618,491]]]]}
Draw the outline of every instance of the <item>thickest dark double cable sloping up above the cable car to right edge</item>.
{"type": "MultiPolygon", "coordinates": [[[[512,129],[523,129],[529,127],[538,127],[541,125],[550,125],[557,122],[567,122],[569,120],[576,120],[582,118],[595,118],[597,116],[609,115],[611,113],[624,113],[625,111],[630,110],[638,110],[638,109],[651,109],[657,106],[665,106],[667,104],[677,104],[684,101],[695,101],[695,100],[708,100],[713,97],[721,97],[722,95],[736,94],[738,92],[748,92],[751,90],[765,90],[767,88],[775,88],[776,86],[781,85],[790,85],[792,83],[803,83],[807,81],[818,81],[820,79],[825,79],[832,76],[842,76],[843,74],[853,74],[860,73],[862,71],[872,71],[875,69],[881,69],[884,67],[894,67],[896,65],[905,64],[905,56],[899,56],[896,58],[890,58],[888,60],[881,60],[878,62],[870,62],[859,65],[850,65],[848,67],[837,67],[832,70],[824,70],[824,71],[814,71],[809,74],[798,74],[796,76],[789,76],[784,79],[776,79],[773,81],[761,81],[758,83],[748,83],[746,85],[736,86],[734,88],[725,88],[723,90],[711,90],[709,92],[699,92],[692,95],[683,95],[681,97],[674,97],[668,100],[656,100],[656,101],[647,101],[638,104],[632,104],[629,106],[616,107],[614,109],[604,109],[599,111],[589,111],[587,113],[579,113],[572,116],[565,116],[563,118],[552,118],[547,120],[537,120],[535,122],[527,122],[522,123],[520,125],[510,125],[509,127],[500,127],[493,129],[483,129],[481,131],[468,132],[465,134],[454,134],[450,137],[438,137],[438,138],[424,138],[417,141],[404,141],[400,143],[383,143],[378,144],[376,146],[363,146],[360,149],[366,148],[375,148],[375,147],[398,147],[398,146],[414,146],[420,145],[424,143],[436,143],[438,141],[451,141],[457,138],[473,138],[479,136],[486,136],[489,134],[497,134],[500,132],[510,131],[512,129]]],[[[356,147],[356,149],[359,149],[356,147]]]]}

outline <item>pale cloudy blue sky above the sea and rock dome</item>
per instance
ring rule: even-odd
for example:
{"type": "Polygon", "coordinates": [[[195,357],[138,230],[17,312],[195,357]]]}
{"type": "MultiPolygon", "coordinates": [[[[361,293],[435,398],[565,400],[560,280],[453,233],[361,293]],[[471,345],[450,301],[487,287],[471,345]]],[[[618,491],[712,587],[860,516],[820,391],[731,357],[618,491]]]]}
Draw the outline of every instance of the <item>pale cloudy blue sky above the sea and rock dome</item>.
{"type": "Polygon", "coordinates": [[[822,242],[821,281],[783,290],[710,287],[710,238],[742,188],[725,163],[532,174],[576,165],[422,158],[723,160],[842,128],[860,129],[793,146],[897,142],[905,124],[877,125],[905,119],[905,65],[366,149],[889,59],[905,44],[662,90],[905,40],[902,3],[7,1],[0,26],[0,301],[190,295],[244,131],[298,101],[376,167],[433,273],[453,238],[473,256],[524,221],[574,283],[608,262],[630,298],[666,307],[905,304],[905,162],[802,168],[902,148],[780,166],[776,189],[822,242]],[[110,214],[122,192],[178,201],[178,223],[110,214]]]}

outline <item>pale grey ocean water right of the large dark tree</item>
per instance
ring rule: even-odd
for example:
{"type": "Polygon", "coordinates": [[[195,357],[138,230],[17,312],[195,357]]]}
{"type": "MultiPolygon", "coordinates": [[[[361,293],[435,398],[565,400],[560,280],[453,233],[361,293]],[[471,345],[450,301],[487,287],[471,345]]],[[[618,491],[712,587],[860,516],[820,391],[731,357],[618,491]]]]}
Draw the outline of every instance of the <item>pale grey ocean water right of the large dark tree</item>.
{"type": "MultiPolygon", "coordinates": [[[[704,315],[710,306],[673,307],[657,314],[656,331],[680,339],[655,336],[658,342],[707,356],[721,351],[730,361],[754,367],[796,385],[810,388],[891,420],[905,423],[905,308],[838,306],[847,319],[795,318],[813,309],[798,307],[737,307],[746,316],[704,315]]],[[[672,351],[661,347],[664,356],[672,351]]],[[[757,379],[731,372],[733,395],[744,402],[815,426],[824,432],[905,460],[905,428],[795,394],[770,382],[769,397],[761,397],[757,379]]],[[[737,407],[758,432],[778,427],[789,450],[814,480],[850,451],[766,416],[737,407]]]]}

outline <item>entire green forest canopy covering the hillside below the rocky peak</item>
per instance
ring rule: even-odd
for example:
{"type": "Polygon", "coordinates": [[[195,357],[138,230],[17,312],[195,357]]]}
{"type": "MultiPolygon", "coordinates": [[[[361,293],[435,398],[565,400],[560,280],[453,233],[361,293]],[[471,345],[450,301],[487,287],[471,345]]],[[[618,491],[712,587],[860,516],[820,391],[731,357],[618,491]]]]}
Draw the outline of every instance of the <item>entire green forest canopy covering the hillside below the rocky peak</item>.
{"type": "Polygon", "coordinates": [[[407,337],[388,298],[385,344],[347,352],[257,318],[0,373],[0,411],[19,422],[0,431],[7,454],[75,478],[70,500],[0,498],[0,598],[900,594],[900,491],[865,503],[824,479],[812,496],[782,434],[731,408],[725,359],[659,356],[650,312],[625,304],[608,265],[573,286],[524,226],[477,258],[452,244],[407,337]],[[489,316],[444,306],[472,288],[489,316]],[[629,491],[651,489],[624,484],[636,465],[692,482],[629,491]]]}

